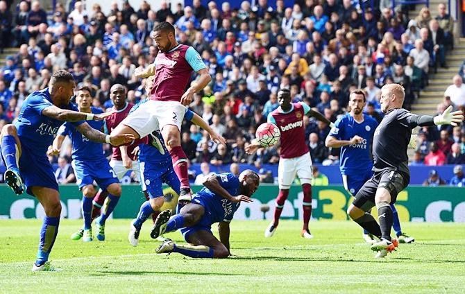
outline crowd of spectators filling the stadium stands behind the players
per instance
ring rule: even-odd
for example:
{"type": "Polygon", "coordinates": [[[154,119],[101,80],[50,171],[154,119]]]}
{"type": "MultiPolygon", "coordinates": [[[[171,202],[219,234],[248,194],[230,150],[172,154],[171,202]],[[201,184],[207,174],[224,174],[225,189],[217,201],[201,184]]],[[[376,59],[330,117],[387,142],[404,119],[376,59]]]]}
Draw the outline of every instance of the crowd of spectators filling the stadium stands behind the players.
{"type": "MultiPolygon", "coordinates": [[[[190,107],[228,141],[217,146],[185,123],[183,149],[192,163],[278,163],[279,148],[247,155],[244,146],[278,107],[280,88],[290,89],[294,102],[316,107],[330,121],[346,112],[351,91],[364,89],[366,113],[379,122],[382,85],[403,85],[404,107],[409,109],[428,84],[428,73],[447,67],[453,19],[445,5],[439,5],[439,16],[433,19],[428,8],[411,17],[400,6],[393,11],[391,1],[374,7],[354,6],[350,0],[321,2],[296,1],[285,7],[278,0],[271,8],[267,0],[256,6],[243,1],[240,9],[232,9],[227,2],[218,7],[214,1],[203,6],[194,0],[192,7],[178,5],[172,13],[166,1],[160,10],[152,10],[146,1],[140,7],[126,1],[123,6],[112,3],[105,15],[98,3],[87,12],[76,1],[69,11],[57,3],[47,17],[39,1],[22,1],[11,15],[1,0],[0,46],[17,46],[19,51],[8,55],[0,71],[0,127],[14,121],[26,96],[47,87],[57,69],[70,71],[78,87],[91,87],[93,105],[104,110],[112,107],[109,89],[115,83],[127,87],[128,101],[144,99],[144,80],[133,73],[153,62],[150,32],[159,21],[175,24],[178,42],[193,46],[208,65],[212,83],[194,96],[190,107]]],[[[461,88],[462,80],[455,85],[461,88]]],[[[464,94],[444,98],[438,112],[448,105],[463,109],[463,99],[464,94]]],[[[304,123],[313,162],[338,164],[339,149],[323,143],[329,126],[308,118],[304,123]]],[[[110,146],[106,150],[111,153],[110,146]]],[[[68,148],[62,155],[69,158],[70,153],[68,148]]],[[[464,126],[423,128],[412,164],[464,164],[464,153],[464,126]]]]}

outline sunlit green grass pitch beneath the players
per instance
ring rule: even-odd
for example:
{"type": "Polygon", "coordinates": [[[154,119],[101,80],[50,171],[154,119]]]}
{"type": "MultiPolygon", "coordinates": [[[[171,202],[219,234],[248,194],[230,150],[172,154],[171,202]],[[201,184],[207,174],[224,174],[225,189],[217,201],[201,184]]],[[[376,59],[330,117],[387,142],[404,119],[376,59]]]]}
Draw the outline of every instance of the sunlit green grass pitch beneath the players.
{"type": "Polygon", "coordinates": [[[304,240],[298,221],[283,220],[272,239],[263,221],[233,221],[234,256],[222,260],[155,254],[149,223],[137,248],[129,220],[108,220],[105,242],[71,241],[80,225],[60,224],[51,260],[63,272],[31,273],[40,220],[0,220],[0,293],[465,292],[465,224],[405,223],[417,241],[382,260],[350,222],[312,222],[304,240]]]}

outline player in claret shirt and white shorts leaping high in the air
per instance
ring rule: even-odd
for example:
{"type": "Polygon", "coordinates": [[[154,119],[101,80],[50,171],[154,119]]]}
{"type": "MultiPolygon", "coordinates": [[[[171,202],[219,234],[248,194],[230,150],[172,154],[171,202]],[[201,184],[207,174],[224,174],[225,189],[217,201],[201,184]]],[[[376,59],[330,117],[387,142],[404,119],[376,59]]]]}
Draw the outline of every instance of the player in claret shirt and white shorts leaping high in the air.
{"type": "Polygon", "coordinates": [[[174,26],[162,21],[151,33],[159,53],[155,62],[135,73],[137,78],[155,75],[150,101],[125,119],[113,134],[131,134],[142,138],[155,130],[155,119],[160,123],[162,137],[167,144],[174,171],[181,182],[180,201],[192,199],[187,156],[180,146],[180,127],[185,113],[183,105],[191,103],[194,93],[201,91],[212,80],[202,58],[191,46],[178,44],[174,26]],[[195,83],[184,92],[192,70],[199,75],[195,83]]]}

